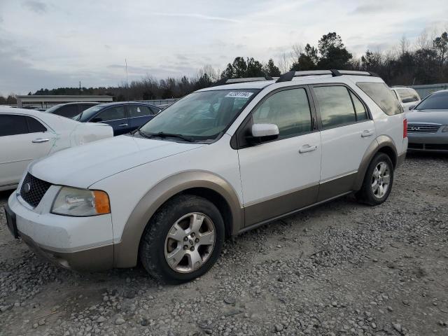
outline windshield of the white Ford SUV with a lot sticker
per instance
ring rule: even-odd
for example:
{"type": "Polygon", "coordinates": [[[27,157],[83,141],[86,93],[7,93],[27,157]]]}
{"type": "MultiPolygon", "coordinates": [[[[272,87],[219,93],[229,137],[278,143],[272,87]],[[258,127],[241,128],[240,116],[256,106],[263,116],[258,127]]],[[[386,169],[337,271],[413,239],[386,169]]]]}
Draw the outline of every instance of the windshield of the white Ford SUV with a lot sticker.
{"type": "Polygon", "coordinates": [[[198,141],[211,141],[232,123],[260,90],[214,90],[193,92],[141,127],[150,134],[177,134],[198,141]]]}

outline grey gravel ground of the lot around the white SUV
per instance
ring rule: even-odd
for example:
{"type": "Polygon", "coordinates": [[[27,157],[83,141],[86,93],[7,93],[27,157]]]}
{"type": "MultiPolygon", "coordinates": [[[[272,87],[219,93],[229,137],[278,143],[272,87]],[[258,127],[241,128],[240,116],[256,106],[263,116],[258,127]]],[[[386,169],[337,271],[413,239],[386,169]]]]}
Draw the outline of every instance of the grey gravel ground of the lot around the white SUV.
{"type": "Polygon", "coordinates": [[[58,269],[0,214],[0,335],[448,335],[447,174],[448,155],[409,155],[381,206],[345,197],[247,232],[180,286],[58,269]]]}

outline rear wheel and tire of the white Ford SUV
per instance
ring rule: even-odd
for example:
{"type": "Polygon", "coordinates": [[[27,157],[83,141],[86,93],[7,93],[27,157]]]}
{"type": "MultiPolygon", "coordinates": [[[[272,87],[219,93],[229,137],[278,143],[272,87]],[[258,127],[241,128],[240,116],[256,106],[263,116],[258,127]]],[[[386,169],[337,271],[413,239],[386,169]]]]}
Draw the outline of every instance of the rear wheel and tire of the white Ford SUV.
{"type": "Polygon", "coordinates": [[[393,184],[393,164],[385,153],[377,153],[365,172],[363,186],[356,198],[375,206],[387,200],[393,184]]]}

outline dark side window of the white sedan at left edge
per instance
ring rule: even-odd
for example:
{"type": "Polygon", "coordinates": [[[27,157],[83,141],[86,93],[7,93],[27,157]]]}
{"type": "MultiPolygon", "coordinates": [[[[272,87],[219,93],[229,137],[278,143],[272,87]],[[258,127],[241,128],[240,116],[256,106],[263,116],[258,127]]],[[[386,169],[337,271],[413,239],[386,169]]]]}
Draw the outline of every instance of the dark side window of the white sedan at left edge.
{"type": "Polygon", "coordinates": [[[36,119],[13,114],[0,114],[0,137],[36,132],[45,132],[47,129],[36,119]]]}

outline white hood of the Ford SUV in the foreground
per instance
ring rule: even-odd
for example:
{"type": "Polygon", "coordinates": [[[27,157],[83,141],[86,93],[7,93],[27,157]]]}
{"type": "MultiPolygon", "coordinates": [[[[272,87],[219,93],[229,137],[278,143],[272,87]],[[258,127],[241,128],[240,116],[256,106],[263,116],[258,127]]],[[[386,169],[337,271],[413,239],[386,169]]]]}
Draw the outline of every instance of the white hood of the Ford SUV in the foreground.
{"type": "Polygon", "coordinates": [[[53,184],[87,188],[113,174],[167,158],[204,144],[184,144],[122,135],[57,152],[36,160],[28,171],[53,184]]]}

